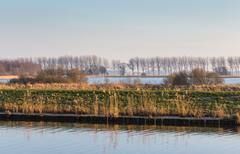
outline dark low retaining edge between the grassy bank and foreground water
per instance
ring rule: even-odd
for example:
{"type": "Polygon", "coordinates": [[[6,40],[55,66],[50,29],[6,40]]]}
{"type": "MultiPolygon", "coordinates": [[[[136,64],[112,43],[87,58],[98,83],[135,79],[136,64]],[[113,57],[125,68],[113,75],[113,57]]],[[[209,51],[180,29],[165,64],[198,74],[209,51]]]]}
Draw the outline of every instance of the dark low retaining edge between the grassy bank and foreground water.
{"type": "Polygon", "coordinates": [[[55,114],[55,113],[0,113],[1,121],[34,121],[34,122],[67,122],[90,124],[120,124],[120,125],[165,125],[165,126],[199,126],[199,127],[236,127],[239,126],[234,119],[213,117],[180,117],[180,116],[95,116],[79,114],[55,114]]]}

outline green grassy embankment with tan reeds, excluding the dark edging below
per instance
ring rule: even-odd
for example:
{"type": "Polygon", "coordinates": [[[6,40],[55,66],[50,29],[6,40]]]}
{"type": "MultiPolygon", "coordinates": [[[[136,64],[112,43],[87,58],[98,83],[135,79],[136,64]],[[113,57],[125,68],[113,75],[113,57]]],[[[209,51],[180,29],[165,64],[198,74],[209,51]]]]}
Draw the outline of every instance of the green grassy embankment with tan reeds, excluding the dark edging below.
{"type": "MultiPolygon", "coordinates": [[[[191,88],[190,88],[191,89],[191,88]]],[[[0,111],[106,116],[239,117],[240,91],[0,89],[0,111]]]]}

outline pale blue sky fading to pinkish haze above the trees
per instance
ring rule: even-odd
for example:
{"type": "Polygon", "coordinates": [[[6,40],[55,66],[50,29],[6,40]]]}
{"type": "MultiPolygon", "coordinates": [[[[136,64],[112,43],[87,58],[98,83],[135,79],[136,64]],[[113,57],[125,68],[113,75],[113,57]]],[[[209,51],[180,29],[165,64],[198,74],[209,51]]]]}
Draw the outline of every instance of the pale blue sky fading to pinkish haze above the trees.
{"type": "Polygon", "coordinates": [[[0,0],[0,58],[240,56],[239,0],[0,0]]]}

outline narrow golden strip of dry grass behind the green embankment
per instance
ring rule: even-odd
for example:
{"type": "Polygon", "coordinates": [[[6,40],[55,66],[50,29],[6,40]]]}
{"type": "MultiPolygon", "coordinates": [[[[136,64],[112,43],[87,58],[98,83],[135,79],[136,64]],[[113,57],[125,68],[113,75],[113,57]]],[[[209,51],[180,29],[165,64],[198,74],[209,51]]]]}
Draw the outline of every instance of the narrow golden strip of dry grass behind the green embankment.
{"type": "Polygon", "coordinates": [[[0,84],[1,89],[48,89],[48,90],[194,90],[194,91],[240,91],[240,85],[192,85],[192,86],[164,86],[143,84],[87,84],[87,83],[51,83],[51,84],[0,84]]]}

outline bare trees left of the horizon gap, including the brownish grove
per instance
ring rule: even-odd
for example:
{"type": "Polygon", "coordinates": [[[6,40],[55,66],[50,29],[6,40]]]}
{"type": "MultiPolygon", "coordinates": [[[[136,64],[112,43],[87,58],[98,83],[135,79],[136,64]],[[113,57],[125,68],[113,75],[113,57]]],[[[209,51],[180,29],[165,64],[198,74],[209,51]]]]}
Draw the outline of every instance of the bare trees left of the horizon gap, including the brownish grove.
{"type": "Polygon", "coordinates": [[[86,74],[106,74],[108,61],[97,56],[62,56],[58,58],[21,58],[0,60],[0,74],[35,75],[46,69],[79,69],[86,74]]]}

